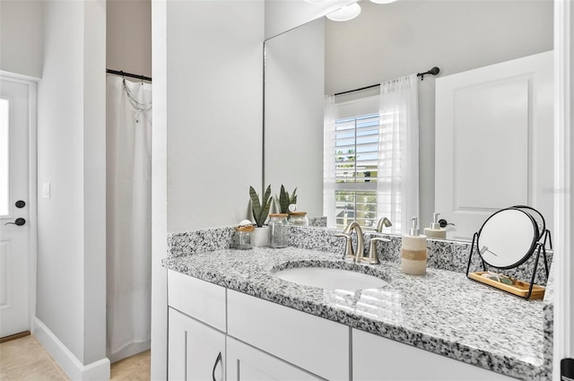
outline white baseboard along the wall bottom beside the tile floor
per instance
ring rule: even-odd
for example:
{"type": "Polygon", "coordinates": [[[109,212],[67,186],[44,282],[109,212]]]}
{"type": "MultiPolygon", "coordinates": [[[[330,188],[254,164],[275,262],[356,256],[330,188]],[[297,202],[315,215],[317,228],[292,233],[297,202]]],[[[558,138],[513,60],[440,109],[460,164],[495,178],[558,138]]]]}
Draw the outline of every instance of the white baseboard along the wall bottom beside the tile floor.
{"type": "Polygon", "coordinates": [[[109,359],[99,359],[83,365],[50,329],[38,317],[32,318],[32,334],[62,367],[72,380],[103,381],[109,380],[109,359]]]}

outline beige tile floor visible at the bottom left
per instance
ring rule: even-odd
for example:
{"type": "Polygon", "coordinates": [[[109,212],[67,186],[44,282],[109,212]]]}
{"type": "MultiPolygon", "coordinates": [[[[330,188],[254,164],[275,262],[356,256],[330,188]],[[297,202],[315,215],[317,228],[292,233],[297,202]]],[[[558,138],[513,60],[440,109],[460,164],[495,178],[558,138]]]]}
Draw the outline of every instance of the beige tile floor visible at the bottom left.
{"type": "MultiPolygon", "coordinates": [[[[33,336],[0,344],[1,381],[66,381],[70,378],[33,336]]],[[[112,381],[149,381],[150,351],[117,361],[112,381]]]]}

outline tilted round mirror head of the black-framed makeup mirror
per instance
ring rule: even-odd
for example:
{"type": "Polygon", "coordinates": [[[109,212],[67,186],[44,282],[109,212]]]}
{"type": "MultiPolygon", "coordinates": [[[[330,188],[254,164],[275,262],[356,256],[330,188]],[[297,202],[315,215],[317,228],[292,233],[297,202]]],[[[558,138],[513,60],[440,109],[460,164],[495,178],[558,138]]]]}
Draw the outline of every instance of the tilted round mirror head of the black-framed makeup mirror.
{"type": "Polygon", "coordinates": [[[529,212],[511,207],[495,212],[484,221],[476,244],[486,264],[508,269],[523,264],[535,252],[541,234],[529,212]]]}

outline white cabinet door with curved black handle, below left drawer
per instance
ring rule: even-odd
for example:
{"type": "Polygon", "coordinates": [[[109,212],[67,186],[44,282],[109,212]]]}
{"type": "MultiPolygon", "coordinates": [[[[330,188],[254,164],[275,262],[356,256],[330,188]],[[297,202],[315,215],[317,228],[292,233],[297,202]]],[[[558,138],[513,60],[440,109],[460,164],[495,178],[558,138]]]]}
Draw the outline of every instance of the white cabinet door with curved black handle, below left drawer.
{"type": "Polygon", "coordinates": [[[170,308],[170,380],[224,381],[225,334],[170,308]]]}

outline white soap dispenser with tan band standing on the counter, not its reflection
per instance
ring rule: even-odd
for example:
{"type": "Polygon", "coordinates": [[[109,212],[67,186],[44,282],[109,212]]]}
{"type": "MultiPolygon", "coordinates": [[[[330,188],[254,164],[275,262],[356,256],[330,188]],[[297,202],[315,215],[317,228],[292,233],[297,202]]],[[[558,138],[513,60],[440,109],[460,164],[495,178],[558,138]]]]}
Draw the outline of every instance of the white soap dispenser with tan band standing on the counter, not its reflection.
{"type": "Polygon", "coordinates": [[[409,234],[404,235],[401,246],[401,271],[411,275],[427,272],[427,237],[419,234],[418,219],[411,219],[409,234]]]}

